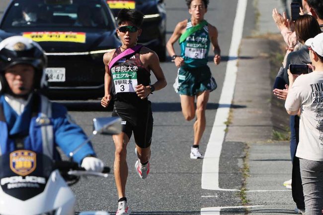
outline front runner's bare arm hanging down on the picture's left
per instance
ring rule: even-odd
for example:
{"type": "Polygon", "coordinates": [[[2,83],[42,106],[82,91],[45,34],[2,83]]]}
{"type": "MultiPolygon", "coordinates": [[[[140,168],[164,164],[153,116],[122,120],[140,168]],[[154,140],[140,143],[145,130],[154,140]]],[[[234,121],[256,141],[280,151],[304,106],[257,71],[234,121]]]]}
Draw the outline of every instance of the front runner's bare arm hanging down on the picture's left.
{"type": "Polygon", "coordinates": [[[111,72],[109,69],[109,63],[111,61],[113,51],[105,53],[103,55],[103,63],[104,63],[104,68],[105,68],[105,74],[104,74],[104,96],[101,99],[101,105],[103,107],[107,107],[110,103],[111,100],[111,87],[112,87],[112,82],[111,82],[111,72]]]}

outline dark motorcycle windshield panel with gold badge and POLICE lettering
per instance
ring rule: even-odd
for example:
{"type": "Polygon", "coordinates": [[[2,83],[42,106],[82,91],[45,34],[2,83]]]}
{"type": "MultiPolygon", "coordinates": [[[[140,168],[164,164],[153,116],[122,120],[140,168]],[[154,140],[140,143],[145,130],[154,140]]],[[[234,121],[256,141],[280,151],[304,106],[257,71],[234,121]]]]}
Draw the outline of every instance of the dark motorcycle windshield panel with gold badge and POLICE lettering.
{"type": "Polygon", "coordinates": [[[30,150],[16,150],[0,156],[0,185],[4,193],[28,200],[46,187],[53,171],[50,157],[30,150]]]}

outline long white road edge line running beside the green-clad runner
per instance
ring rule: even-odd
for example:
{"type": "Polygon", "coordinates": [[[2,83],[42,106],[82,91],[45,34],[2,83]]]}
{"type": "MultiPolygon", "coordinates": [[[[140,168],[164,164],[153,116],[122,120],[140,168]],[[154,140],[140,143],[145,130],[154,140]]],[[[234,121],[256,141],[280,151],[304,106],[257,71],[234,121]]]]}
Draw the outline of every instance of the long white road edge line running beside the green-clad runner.
{"type": "Polygon", "coordinates": [[[234,21],[232,40],[229,50],[229,61],[227,64],[226,76],[219,100],[219,108],[215,116],[209,143],[207,144],[202,166],[202,189],[208,190],[230,190],[219,188],[219,159],[222,143],[225,137],[226,125],[224,124],[229,116],[237,77],[237,57],[239,45],[242,39],[243,23],[247,0],[238,0],[237,14],[234,21]],[[230,60],[236,59],[236,60],[230,60]]]}

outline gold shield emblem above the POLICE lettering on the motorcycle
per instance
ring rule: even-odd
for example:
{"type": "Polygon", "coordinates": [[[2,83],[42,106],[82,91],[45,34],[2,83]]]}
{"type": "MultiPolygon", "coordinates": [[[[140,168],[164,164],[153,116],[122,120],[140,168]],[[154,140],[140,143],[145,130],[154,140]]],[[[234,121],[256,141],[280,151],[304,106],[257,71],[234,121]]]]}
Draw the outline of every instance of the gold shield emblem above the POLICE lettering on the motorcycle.
{"type": "Polygon", "coordinates": [[[17,150],[10,153],[10,169],[25,176],[36,169],[36,153],[29,150],[17,150]]]}

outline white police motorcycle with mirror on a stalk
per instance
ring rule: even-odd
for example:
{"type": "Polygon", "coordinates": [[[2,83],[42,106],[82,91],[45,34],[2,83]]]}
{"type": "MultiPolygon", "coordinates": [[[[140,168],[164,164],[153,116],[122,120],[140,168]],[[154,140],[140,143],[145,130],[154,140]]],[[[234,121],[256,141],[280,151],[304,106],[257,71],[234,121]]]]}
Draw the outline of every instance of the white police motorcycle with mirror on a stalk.
{"type": "MultiPolygon", "coordinates": [[[[120,118],[94,118],[93,133],[70,153],[69,161],[53,161],[45,154],[16,150],[0,156],[0,215],[75,215],[76,198],[70,185],[82,176],[107,177],[86,171],[72,156],[96,134],[121,132],[120,118]]],[[[107,212],[81,212],[79,215],[109,215],[107,212]]]]}

